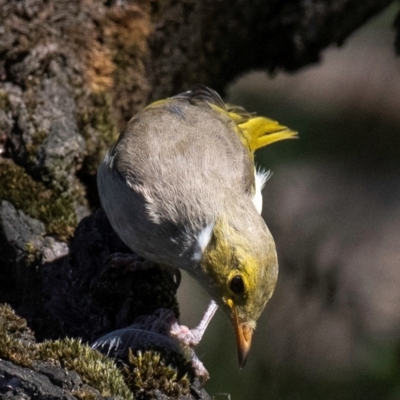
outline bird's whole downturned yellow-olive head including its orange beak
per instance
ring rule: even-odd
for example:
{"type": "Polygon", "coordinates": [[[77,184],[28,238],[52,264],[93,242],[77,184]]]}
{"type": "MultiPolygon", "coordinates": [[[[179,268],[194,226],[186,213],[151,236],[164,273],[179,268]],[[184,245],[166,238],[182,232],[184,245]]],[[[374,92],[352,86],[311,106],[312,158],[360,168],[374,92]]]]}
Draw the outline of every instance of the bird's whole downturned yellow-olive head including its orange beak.
{"type": "Polygon", "coordinates": [[[240,222],[238,215],[218,219],[201,259],[204,286],[233,324],[241,368],[278,275],[272,235],[256,212],[250,214],[240,222]]]}

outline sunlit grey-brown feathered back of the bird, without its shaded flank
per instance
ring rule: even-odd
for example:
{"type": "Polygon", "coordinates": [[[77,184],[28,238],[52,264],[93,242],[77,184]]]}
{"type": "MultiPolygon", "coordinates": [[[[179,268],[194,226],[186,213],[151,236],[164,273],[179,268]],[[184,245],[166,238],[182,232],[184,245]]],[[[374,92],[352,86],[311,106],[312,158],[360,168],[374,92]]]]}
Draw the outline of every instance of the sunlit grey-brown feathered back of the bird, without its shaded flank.
{"type": "Polygon", "coordinates": [[[213,218],[225,196],[252,195],[253,164],[232,121],[179,99],[159,111],[133,121],[120,144],[132,151],[118,160],[154,222],[213,218]]]}

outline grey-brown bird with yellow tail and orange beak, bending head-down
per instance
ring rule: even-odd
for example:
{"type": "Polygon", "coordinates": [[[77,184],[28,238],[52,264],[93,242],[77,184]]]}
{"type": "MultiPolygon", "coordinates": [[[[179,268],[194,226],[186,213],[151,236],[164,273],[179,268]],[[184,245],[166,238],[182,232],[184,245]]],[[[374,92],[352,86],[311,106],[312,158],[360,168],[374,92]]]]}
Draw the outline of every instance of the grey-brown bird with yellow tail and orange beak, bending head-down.
{"type": "Polygon", "coordinates": [[[209,293],[233,324],[240,368],[278,277],[261,216],[269,173],[254,153],[296,137],[197,85],[134,115],[98,168],[113,229],[136,254],[187,271],[209,293]]]}

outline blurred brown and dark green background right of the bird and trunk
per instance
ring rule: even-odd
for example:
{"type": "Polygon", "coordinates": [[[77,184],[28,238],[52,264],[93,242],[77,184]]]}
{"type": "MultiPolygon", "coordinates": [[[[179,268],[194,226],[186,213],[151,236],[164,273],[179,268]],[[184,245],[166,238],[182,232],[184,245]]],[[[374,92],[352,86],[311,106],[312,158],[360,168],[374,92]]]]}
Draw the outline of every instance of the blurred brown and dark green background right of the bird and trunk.
{"type": "MultiPolygon", "coordinates": [[[[253,72],[226,100],[297,130],[261,150],[274,174],[264,218],[280,277],[239,371],[222,313],[196,352],[215,399],[400,398],[400,62],[398,6],[318,65],[294,75],[253,72]],[[230,397],[229,397],[230,396],[230,397]]],[[[181,323],[209,301],[189,276],[181,323]]]]}

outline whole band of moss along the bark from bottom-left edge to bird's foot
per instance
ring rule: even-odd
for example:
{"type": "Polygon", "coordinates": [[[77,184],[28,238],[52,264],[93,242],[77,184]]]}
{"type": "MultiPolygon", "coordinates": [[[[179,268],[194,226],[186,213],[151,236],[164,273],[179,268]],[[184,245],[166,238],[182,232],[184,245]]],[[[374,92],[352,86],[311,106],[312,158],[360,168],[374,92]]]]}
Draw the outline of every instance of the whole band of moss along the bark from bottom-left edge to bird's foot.
{"type": "MultiPolygon", "coordinates": [[[[156,392],[178,398],[190,392],[194,372],[187,357],[155,348],[144,352],[129,351],[126,364],[116,363],[79,339],[35,343],[26,321],[8,305],[0,305],[0,358],[17,365],[35,368],[34,361],[52,361],[76,371],[82,381],[102,396],[125,399],[153,399],[156,392]]],[[[94,400],[90,387],[73,393],[81,400],[94,400]]]]}

